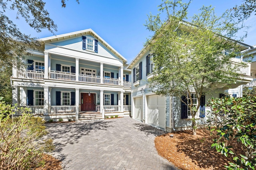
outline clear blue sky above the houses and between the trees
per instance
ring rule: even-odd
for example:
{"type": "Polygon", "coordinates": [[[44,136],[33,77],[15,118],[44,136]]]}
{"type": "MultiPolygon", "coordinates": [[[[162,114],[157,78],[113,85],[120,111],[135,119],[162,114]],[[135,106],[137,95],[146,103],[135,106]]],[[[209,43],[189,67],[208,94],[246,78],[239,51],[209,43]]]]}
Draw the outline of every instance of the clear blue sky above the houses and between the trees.
{"type": "MultiPolygon", "coordinates": [[[[146,38],[152,35],[144,24],[147,15],[157,14],[157,6],[161,0],[66,0],[66,8],[61,8],[61,0],[45,0],[46,9],[50,17],[58,26],[56,35],[80,31],[91,28],[108,44],[124,56],[128,63],[136,57],[143,48],[146,38]]],[[[222,14],[226,9],[241,4],[242,0],[193,0],[188,8],[188,16],[198,13],[202,5],[215,7],[217,14],[222,14]]],[[[15,11],[8,12],[13,17],[14,23],[25,34],[33,37],[44,38],[52,36],[48,30],[40,33],[28,26],[24,20],[15,20],[15,11]]],[[[252,16],[246,25],[253,26],[256,17],[252,16]]],[[[248,29],[248,37],[244,43],[256,44],[254,40],[255,27],[248,29]]]]}

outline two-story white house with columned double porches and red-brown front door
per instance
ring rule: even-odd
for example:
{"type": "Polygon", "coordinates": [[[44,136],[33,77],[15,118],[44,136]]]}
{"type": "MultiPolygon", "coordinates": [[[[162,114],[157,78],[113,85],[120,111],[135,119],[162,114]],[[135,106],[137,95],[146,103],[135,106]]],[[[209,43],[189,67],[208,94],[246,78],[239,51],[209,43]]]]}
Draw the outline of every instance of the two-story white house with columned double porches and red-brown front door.
{"type": "Polygon", "coordinates": [[[27,68],[13,68],[13,104],[64,121],[129,115],[127,60],[92,29],[40,39],[27,68]],[[91,112],[91,114],[84,114],[91,112]]]}

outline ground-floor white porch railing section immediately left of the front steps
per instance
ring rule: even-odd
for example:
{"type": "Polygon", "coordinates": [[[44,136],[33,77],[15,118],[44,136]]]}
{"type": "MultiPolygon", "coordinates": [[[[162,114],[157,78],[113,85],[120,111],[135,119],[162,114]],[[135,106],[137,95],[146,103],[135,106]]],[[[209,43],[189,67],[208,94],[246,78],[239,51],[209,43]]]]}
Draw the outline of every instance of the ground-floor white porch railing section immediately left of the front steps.
{"type": "Polygon", "coordinates": [[[50,114],[76,114],[76,106],[49,106],[50,114]]]}

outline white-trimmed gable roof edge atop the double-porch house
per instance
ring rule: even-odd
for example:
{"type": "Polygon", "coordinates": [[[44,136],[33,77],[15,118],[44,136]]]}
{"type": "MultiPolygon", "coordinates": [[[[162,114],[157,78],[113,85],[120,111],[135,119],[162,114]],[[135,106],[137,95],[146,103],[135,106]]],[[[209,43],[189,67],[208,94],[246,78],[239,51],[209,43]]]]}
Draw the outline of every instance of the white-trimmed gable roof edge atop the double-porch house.
{"type": "Polygon", "coordinates": [[[76,31],[72,33],[66,33],[66,34],[61,34],[61,35],[55,35],[52,37],[46,37],[46,38],[41,38],[39,39],[43,43],[53,43],[57,41],[63,41],[65,39],[70,39],[72,37],[80,37],[81,35],[92,35],[95,37],[102,45],[104,45],[107,49],[109,49],[114,55],[116,55],[118,58],[124,61],[124,63],[127,62],[127,60],[120,54],[118,53],[113,47],[111,47],[104,39],[102,39],[98,34],[96,34],[92,29],[84,29],[82,31],[76,31]]]}

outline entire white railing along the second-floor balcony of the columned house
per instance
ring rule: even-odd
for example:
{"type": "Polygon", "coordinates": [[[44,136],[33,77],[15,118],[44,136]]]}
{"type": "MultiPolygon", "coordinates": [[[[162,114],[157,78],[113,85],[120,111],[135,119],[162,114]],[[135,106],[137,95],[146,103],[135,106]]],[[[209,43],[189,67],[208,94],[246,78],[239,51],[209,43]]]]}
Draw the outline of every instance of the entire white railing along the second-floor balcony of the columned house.
{"type": "MultiPolygon", "coordinates": [[[[18,70],[17,71],[18,78],[30,79],[30,80],[44,80],[44,72],[33,71],[33,70],[18,70]]],[[[73,81],[73,82],[84,82],[84,83],[92,83],[92,84],[109,84],[109,85],[118,85],[121,86],[122,82],[118,78],[108,78],[103,77],[101,80],[100,76],[92,76],[85,74],[78,74],[78,78],[76,78],[76,73],[70,72],[61,72],[50,70],[48,72],[48,78],[51,80],[64,80],[64,81],[73,81]]],[[[124,88],[131,88],[131,82],[123,82],[124,88]]]]}

